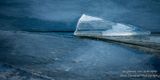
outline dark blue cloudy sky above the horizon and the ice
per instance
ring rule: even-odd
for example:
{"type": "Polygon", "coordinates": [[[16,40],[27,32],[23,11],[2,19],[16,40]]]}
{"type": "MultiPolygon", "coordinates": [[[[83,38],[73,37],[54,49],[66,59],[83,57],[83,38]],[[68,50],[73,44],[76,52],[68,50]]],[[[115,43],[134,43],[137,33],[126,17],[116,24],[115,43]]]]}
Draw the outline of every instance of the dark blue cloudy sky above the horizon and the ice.
{"type": "Polygon", "coordinates": [[[0,0],[0,29],[74,31],[82,14],[160,32],[160,0],[0,0]]]}

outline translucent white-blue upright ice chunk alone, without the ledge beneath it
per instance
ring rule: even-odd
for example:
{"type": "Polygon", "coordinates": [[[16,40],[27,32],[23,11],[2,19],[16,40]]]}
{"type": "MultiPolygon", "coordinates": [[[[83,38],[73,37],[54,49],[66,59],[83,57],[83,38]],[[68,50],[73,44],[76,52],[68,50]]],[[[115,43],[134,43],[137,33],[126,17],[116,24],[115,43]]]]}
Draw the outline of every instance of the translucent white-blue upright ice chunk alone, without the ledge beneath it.
{"type": "Polygon", "coordinates": [[[85,14],[79,19],[74,32],[74,35],[77,36],[132,36],[149,34],[150,31],[145,31],[137,26],[115,23],[85,14]]]}

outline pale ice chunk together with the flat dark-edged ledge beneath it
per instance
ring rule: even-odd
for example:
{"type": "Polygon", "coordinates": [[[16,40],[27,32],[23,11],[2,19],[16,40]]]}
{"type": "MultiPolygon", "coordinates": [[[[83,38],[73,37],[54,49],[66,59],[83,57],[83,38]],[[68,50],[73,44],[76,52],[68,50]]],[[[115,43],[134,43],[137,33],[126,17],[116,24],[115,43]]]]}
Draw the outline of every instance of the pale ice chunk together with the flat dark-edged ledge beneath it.
{"type": "Polygon", "coordinates": [[[79,19],[74,35],[143,46],[154,49],[156,53],[160,49],[160,37],[152,35],[150,31],[87,15],[82,15],[79,19]]]}

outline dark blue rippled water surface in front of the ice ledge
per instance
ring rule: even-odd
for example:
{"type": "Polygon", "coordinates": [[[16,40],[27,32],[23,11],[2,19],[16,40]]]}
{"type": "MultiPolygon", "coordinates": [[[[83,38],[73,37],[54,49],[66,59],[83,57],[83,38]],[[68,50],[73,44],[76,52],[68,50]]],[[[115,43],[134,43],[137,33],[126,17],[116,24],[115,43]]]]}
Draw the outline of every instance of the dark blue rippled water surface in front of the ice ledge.
{"type": "Polygon", "coordinates": [[[124,71],[159,73],[160,56],[155,53],[64,32],[0,31],[0,37],[0,79],[159,80],[121,76],[124,71]]]}

